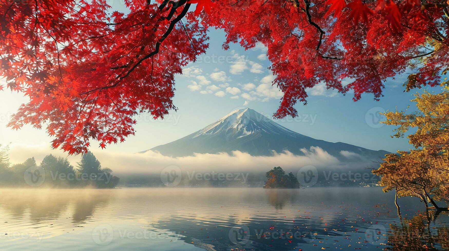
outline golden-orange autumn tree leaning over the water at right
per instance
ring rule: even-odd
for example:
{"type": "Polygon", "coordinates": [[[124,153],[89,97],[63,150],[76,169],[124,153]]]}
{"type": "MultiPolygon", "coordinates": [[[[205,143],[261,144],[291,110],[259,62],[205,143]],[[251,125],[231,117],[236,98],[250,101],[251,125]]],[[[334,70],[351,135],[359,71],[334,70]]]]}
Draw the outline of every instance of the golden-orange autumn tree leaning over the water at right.
{"type": "Polygon", "coordinates": [[[392,137],[401,138],[409,130],[409,143],[414,149],[387,154],[373,173],[381,177],[380,185],[387,192],[396,189],[396,196],[415,196],[428,208],[448,210],[449,203],[449,88],[441,93],[428,91],[414,95],[417,112],[387,111],[382,123],[396,125],[392,137]],[[446,203],[441,208],[435,201],[446,203]],[[429,207],[428,203],[432,206],[429,207]]]}

